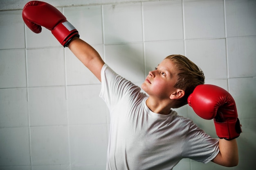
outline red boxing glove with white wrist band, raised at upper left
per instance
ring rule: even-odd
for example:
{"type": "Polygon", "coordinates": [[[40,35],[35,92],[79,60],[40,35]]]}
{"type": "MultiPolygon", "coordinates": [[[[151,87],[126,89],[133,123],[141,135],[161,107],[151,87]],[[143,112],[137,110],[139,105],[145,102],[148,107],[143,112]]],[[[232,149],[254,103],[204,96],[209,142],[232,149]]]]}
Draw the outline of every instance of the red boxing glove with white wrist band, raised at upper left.
{"type": "Polygon", "coordinates": [[[41,26],[52,31],[54,37],[64,47],[73,37],[79,37],[78,31],[67,21],[66,17],[58,9],[46,2],[28,2],[23,8],[22,18],[34,33],[40,33],[41,26]]]}

